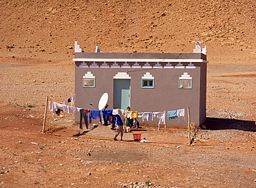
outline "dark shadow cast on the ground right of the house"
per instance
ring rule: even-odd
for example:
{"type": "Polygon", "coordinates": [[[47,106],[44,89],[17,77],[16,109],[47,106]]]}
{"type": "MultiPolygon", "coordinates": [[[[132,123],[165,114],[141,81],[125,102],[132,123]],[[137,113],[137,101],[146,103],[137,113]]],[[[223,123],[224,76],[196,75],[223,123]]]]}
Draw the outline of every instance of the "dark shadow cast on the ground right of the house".
{"type": "Polygon", "coordinates": [[[206,118],[204,125],[206,129],[210,130],[239,129],[246,132],[256,132],[255,121],[243,121],[229,118],[206,118]]]}

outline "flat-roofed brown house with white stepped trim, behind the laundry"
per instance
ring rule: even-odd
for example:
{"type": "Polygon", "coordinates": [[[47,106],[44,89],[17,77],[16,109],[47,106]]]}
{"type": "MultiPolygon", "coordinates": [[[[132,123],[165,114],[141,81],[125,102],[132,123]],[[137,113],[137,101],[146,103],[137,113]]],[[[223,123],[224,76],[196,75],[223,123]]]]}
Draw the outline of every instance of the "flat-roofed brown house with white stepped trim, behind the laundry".
{"type": "MultiPolygon", "coordinates": [[[[190,120],[196,126],[206,118],[206,48],[201,43],[193,53],[112,53],[82,52],[75,42],[75,106],[98,109],[107,92],[107,109],[137,112],[167,112],[190,107],[190,120]]],[[[75,122],[80,114],[75,114],[75,122]]],[[[139,120],[140,121],[140,120],[139,120]]],[[[168,120],[167,127],[188,126],[185,118],[168,120]]],[[[156,127],[154,121],[140,125],[156,127]]]]}

